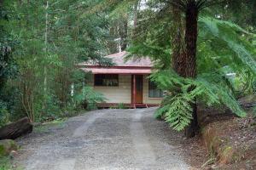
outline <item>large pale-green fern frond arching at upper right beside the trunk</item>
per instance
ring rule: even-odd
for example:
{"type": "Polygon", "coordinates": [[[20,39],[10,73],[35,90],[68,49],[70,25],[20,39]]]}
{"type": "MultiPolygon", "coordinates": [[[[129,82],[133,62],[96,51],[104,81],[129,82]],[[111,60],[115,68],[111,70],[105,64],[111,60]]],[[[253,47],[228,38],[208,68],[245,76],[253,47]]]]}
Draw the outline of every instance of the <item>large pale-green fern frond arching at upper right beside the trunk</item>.
{"type": "MultiPolygon", "coordinates": [[[[230,58],[230,66],[243,65],[256,74],[256,60],[252,44],[244,40],[246,36],[254,36],[229,21],[217,20],[211,17],[201,17],[201,39],[207,39],[223,44],[223,50],[230,50],[229,54],[221,55],[222,58],[230,58]]],[[[219,51],[216,49],[216,51],[219,51]]],[[[237,67],[236,67],[237,68],[237,67]]]]}

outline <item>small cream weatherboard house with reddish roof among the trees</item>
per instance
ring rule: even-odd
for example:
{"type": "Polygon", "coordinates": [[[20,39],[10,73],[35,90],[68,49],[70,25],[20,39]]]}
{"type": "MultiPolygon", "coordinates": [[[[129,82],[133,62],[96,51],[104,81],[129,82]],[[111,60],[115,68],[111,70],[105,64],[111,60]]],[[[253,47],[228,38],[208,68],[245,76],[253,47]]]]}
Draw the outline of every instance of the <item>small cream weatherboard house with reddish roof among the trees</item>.
{"type": "Polygon", "coordinates": [[[156,88],[148,76],[152,71],[150,59],[130,59],[125,62],[127,52],[106,56],[113,66],[100,66],[91,62],[79,64],[83,71],[90,71],[92,78],[87,83],[107,98],[99,107],[124,104],[126,107],[150,107],[160,105],[163,92],[156,88]]]}

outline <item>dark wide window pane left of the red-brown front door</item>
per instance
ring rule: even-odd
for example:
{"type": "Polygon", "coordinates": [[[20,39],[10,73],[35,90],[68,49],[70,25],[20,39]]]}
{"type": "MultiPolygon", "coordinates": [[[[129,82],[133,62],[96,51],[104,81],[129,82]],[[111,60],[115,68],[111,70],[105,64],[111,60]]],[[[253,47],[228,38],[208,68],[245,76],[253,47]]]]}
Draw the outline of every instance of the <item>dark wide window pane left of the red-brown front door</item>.
{"type": "Polygon", "coordinates": [[[119,75],[95,75],[94,79],[95,86],[119,86],[119,75]]]}

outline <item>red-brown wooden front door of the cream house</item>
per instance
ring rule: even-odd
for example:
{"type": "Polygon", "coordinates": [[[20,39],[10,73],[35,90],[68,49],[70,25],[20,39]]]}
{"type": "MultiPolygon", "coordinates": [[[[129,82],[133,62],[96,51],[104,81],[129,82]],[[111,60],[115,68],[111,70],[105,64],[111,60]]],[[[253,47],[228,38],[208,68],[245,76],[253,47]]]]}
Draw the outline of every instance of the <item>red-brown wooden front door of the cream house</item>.
{"type": "Polygon", "coordinates": [[[132,103],[143,104],[143,75],[132,76],[132,103]]]}

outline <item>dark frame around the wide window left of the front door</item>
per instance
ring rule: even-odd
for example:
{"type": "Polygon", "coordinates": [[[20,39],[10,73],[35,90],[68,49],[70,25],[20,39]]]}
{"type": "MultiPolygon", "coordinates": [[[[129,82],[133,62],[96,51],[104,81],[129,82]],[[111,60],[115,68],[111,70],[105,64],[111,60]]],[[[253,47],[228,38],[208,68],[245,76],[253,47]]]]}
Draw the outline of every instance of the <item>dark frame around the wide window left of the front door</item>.
{"type": "Polygon", "coordinates": [[[108,88],[111,88],[111,87],[119,87],[119,74],[95,74],[94,75],[94,82],[93,82],[94,86],[95,87],[108,87],[108,88]],[[101,76],[101,78],[99,79],[102,79],[102,84],[98,84],[96,83],[96,77],[99,77],[101,76]],[[103,83],[103,79],[107,79],[107,80],[116,80],[117,81],[117,84],[116,85],[107,85],[107,84],[104,84],[103,83]]]}

